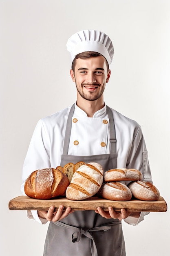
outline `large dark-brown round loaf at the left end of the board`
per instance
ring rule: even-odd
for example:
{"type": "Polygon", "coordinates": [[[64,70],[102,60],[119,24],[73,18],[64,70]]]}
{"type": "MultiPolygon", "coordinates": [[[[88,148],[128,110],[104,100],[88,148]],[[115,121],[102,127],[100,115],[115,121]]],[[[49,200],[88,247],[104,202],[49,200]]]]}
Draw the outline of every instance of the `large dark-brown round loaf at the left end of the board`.
{"type": "Polygon", "coordinates": [[[62,171],[45,168],[34,171],[26,179],[24,190],[26,195],[37,199],[50,199],[64,195],[70,184],[62,171]]]}

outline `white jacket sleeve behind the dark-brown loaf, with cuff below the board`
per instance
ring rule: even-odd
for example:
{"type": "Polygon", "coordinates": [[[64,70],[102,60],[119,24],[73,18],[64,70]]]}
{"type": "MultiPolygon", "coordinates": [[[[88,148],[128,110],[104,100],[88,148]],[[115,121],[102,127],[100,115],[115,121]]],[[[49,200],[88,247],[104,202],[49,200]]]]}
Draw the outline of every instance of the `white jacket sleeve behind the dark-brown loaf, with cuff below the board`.
{"type": "MultiPolygon", "coordinates": [[[[49,137],[44,129],[42,120],[40,120],[35,127],[26,158],[24,160],[21,185],[21,192],[23,195],[25,195],[24,184],[27,177],[29,177],[33,171],[46,167],[51,167],[49,137]]],[[[38,217],[37,211],[27,211],[27,216],[41,224],[45,224],[47,222],[46,220],[38,217]]]]}

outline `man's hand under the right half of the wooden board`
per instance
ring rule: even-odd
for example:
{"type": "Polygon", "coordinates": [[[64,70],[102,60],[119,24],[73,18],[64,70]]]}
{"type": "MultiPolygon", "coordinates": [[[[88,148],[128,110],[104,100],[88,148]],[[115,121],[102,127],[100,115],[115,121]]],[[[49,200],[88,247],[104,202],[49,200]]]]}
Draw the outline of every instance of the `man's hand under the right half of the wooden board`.
{"type": "Polygon", "coordinates": [[[128,218],[128,216],[136,217],[139,218],[140,213],[133,213],[130,211],[126,211],[125,209],[121,209],[121,212],[114,211],[113,207],[108,207],[108,211],[103,211],[102,208],[97,207],[97,210],[95,213],[99,213],[102,217],[106,219],[118,219],[118,220],[123,220],[128,218]]]}

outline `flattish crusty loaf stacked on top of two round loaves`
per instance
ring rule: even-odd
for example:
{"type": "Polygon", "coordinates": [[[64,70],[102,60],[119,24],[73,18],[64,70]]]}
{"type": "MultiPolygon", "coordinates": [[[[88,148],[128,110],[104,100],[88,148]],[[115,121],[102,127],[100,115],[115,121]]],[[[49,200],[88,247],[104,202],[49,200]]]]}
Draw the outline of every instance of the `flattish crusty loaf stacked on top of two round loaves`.
{"type": "Polygon", "coordinates": [[[142,173],[136,169],[117,168],[104,173],[104,182],[141,180],[142,173]]]}

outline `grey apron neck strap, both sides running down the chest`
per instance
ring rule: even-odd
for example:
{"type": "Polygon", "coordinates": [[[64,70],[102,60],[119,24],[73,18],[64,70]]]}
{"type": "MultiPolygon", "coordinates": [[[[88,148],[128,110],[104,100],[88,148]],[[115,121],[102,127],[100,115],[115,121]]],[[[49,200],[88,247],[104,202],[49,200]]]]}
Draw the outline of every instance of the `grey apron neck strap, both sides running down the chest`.
{"type": "MultiPolygon", "coordinates": [[[[74,113],[75,103],[71,106],[70,112],[68,114],[67,124],[66,124],[66,132],[64,137],[64,146],[63,146],[63,155],[67,155],[68,147],[70,143],[70,135],[71,135],[71,123],[72,117],[74,113]]],[[[110,130],[110,153],[116,154],[116,134],[115,134],[115,124],[113,119],[112,110],[106,106],[108,118],[109,118],[109,130],[110,130]]]]}

